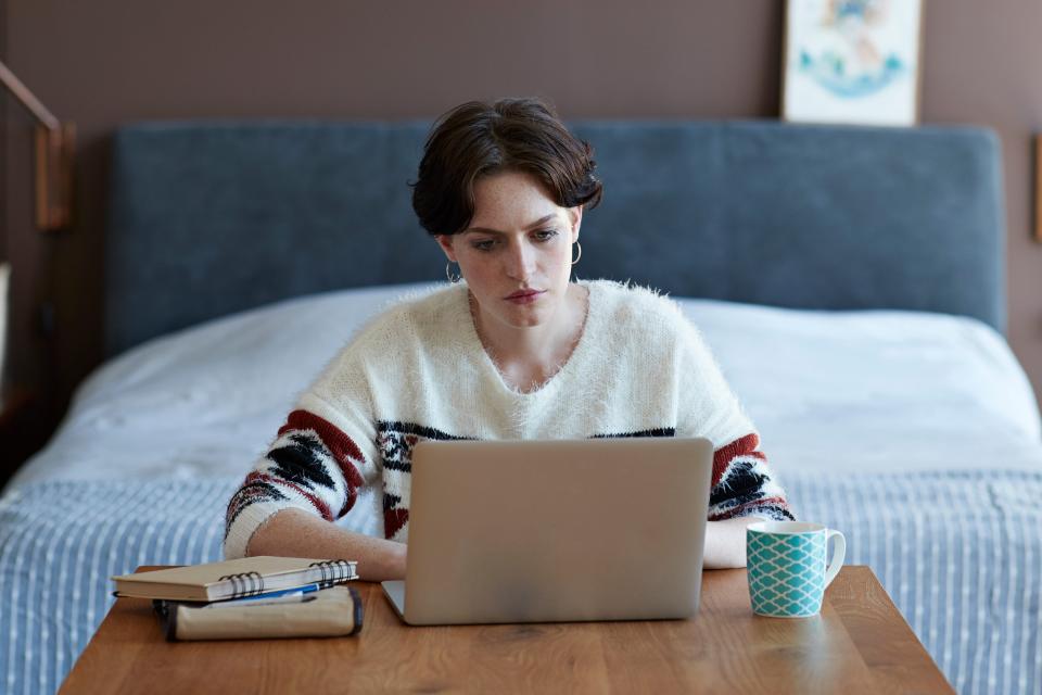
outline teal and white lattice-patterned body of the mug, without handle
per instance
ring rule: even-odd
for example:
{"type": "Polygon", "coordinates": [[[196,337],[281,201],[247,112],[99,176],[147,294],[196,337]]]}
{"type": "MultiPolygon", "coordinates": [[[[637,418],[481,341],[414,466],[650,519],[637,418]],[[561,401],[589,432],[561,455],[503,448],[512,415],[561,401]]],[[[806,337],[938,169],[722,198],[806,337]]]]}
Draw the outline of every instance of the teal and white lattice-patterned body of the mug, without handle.
{"type": "Polygon", "coordinates": [[[821,610],[825,543],[800,534],[778,538],[754,533],[749,541],[748,567],[757,612],[813,616],[821,610]]]}

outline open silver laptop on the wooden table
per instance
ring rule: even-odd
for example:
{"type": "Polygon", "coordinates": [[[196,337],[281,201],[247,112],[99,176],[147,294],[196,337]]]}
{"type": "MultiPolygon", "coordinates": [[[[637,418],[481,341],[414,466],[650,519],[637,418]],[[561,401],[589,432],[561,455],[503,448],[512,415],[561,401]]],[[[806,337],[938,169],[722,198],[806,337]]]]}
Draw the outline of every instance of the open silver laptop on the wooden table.
{"type": "Polygon", "coordinates": [[[409,624],[688,618],[698,610],[706,439],[435,442],[412,452],[409,624]]]}

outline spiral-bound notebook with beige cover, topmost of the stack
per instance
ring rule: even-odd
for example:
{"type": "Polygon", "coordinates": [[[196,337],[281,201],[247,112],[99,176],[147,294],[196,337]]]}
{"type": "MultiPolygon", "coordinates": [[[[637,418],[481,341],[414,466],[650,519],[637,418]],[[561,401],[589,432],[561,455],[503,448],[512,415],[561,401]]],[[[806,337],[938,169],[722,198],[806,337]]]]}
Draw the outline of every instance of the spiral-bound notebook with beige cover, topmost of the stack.
{"type": "Polygon", "coordinates": [[[238,560],[175,567],[113,577],[116,596],[169,601],[225,601],[319,584],[320,589],[357,579],[357,564],[260,555],[238,560]]]}

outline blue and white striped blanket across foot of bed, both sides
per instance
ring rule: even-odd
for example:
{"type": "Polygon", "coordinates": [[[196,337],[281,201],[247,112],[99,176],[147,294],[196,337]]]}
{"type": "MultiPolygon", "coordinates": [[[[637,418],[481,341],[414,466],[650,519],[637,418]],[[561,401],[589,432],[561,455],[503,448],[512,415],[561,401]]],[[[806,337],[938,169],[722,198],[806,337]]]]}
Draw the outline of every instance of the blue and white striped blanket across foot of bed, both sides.
{"type": "MultiPolygon", "coordinates": [[[[239,477],[40,482],[0,502],[0,691],[52,693],[104,618],[109,577],[218,559],[239,477]]],[[[961,693],[1042,691],[1042,472],[789,475],[843,531],[961,693]]]]}

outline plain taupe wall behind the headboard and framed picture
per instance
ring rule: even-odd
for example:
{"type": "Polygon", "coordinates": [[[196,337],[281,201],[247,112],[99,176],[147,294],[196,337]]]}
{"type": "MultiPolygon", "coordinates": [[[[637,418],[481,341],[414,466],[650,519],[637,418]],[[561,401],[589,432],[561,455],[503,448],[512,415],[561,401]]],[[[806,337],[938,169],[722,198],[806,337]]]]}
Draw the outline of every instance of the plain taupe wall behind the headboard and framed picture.
{"type": "MultiPolygon", "coordinates": [[[[548,97],[567,117],[775,117],[779,96],[779,0],[0,0],[0,22],[8,64],[80,136],[76,224],[37,232],[29,122],[3,100],[9,379],[51,393],[55,413],[101,354],[105,155],[120,122],[433,116],[505,94],[548,97]]],[[[1002,137],[1009,338],[1035,389],[1042,245],[1029,232],[1029,141],[1042,125],[1040,27],[1038,0],[929,0],[922,90],[924,122],[1002,137]]]]}

